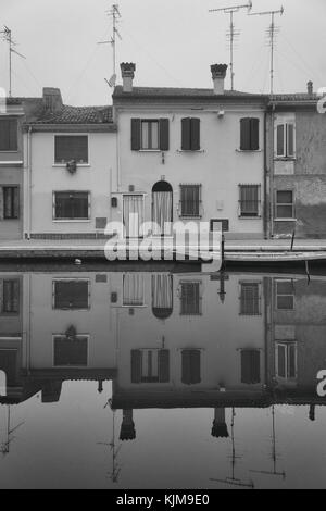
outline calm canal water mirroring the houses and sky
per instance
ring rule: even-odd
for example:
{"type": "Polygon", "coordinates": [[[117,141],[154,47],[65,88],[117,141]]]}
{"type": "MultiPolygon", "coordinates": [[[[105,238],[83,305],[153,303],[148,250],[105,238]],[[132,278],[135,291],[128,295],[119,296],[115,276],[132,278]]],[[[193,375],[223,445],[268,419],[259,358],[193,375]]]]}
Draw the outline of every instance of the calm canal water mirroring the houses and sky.
{"type": "Polygon", "coordinates": [[[323,488],[326,277],[0,270],[1,488],[323,488]]]}

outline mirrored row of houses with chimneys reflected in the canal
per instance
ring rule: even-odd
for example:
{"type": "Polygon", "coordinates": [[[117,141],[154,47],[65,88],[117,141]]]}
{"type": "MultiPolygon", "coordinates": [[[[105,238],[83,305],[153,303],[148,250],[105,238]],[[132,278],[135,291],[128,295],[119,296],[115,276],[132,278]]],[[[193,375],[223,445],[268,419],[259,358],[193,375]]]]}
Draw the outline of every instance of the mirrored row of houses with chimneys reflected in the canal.
{"type": "Polygon", "coordinates": [[[133,411],[305,404],[314,419],[326,364],[326,281],[252,274],[0,275],[2,403],[59,401],[66,381],[113,379],[121,439],[133,411]]]}

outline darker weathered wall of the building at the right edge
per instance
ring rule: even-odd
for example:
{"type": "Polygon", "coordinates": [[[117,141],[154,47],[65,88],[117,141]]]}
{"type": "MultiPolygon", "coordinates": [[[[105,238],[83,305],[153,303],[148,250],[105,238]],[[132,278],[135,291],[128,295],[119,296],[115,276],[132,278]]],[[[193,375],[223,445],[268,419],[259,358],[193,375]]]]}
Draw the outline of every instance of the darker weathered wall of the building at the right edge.
{"type": "Polygon", "coordinates": [[[275,121],[292,117],[296,123],[296,158],[274,163],[272,201],[273,234],[292,234],[299,238],[326,237],[326,117],[316,110],[296,108],[275,114],[275,121]],[[276,221],[276,192],[291,190],[294,198],[293,221],[276,221]]]}

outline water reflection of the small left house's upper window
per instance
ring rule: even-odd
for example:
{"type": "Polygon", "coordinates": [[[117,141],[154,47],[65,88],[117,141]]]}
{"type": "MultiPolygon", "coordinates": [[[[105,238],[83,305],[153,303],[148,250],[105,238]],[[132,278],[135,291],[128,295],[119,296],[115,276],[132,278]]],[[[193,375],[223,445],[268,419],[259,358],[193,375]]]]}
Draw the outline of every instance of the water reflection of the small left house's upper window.
{"type": "Polygon", "coordinates": [[[88,337],[54,337],[54,367],[86,367],[87,364],[88,337]]]}

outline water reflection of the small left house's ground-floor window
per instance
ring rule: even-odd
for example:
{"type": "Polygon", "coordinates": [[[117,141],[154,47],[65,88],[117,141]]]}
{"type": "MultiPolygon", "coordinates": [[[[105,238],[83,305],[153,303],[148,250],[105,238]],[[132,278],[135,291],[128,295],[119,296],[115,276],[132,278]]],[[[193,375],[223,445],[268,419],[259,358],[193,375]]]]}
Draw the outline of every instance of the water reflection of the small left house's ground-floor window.
{"type": "Polygon", "coordinates": [[[88,281],[54,281],[53,308],[60,310],[88,309],[88,281]]]}

